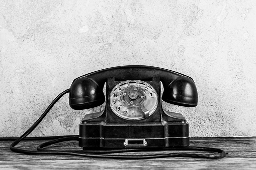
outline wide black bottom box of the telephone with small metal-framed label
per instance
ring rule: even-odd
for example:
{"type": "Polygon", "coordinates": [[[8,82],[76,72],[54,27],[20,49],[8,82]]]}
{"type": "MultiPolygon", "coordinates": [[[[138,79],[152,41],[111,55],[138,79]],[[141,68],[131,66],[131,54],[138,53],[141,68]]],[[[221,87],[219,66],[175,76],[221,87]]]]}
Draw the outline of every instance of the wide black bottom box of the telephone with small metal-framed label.
{"type": "Polygon", "coordinates": [[[137,148],[188,146],[187,122],[80,123],[79,146],[92,148],[137,148]]]}

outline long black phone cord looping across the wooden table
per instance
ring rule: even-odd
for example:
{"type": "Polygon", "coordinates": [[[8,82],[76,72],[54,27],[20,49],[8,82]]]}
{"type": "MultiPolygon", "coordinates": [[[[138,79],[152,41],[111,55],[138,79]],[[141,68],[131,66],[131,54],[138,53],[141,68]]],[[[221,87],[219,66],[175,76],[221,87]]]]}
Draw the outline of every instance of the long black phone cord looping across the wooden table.
{"type": "MultiPolygon", "coordinates": [[[[50,109],[54,106],[54,104],[66,93],[69,93],[70,89],[67,89],[60,93],[47,107],[44,113],[39,117],[39,119],[23,134],[21,137],[16,139],[11,145],[10,149],[14,152],[25,153],[25,154],[59,154],[59,155],[73,155],[73,156],[83,156],[83,157],[95,157],[95,158],[113,158],[113,159],[148,159],[148,158],[160,158],[160,157],[193,157],[193,158],[210,158],[217,159],[223,158],[226,156],[226,153],[222,149],[211,148],[211,147],[170,147],[170,148],[141,148],[141,149],[108,149],[108,150],[50,150],[44,149],[43,147],[49,146],[51,144],[56,144],[63,141],[76,140],[78,141],[78,135],[73,136],[61,136],[61,138],[48,141],[40,144],[37,147],[37,150],[25,150],[21,148],[15,147],[19,144],[26,136],[28,136],[43,120],[43,118],[47,115],[50,109]],[[139,154],[139,155],[128,155],[128,154],[107,154],[107,153],[120,153],[120,152],[141,152],[141,151],[166,151],[166,150],[197,150],[197,151],[208,151],[215,152],[209,154],[194,154],[194,153],[157,153],[157,154],[139,154]]],[[[60,136],[54,136],[50,138],[57,138],[60,136]]],[[[27,139],[27,138],[26,138],[27,139]]],[[[37,139],[37,138],[33,138],[37,139]]],[[[48,139],[48,137],[44,137],[44,139],[48,139]]]]}

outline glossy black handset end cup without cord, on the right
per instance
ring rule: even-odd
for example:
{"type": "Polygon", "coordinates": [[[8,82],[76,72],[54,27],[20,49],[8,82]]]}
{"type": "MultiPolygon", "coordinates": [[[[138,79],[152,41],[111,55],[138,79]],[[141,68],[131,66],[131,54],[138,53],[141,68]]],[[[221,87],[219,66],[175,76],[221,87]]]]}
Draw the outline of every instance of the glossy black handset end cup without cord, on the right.
{"type": "Polygon", "coordinates": [[[164,87],[162,100],[179,106],[197,106],[198,94],[194,81],[184,76],[173,80],[167,87],[164,87]]]}

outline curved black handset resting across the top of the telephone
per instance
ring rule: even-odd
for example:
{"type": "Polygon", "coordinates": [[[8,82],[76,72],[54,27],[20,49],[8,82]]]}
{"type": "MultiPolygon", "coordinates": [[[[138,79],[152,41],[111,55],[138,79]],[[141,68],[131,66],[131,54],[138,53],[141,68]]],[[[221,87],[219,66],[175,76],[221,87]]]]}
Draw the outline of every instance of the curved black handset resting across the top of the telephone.
{"type": "Polygon", "coordinates": [[[70,87],[70,107],[79,110],[103,104],[105,102],[103,87],[111,77],[117,81],[152,80],[158,77],[164,88],[163,101],[186,107],[197,106],[197,89],[191,77],[152,66],[119,66],[76,78],[70,87]]]}

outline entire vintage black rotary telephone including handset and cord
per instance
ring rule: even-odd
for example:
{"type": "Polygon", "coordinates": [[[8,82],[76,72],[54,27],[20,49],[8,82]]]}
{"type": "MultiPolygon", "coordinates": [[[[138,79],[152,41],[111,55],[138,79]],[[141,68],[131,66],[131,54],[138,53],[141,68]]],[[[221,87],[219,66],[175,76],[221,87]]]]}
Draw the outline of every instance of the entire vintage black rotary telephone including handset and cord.
{"type": "Polygon", "coordinates": [[[95,71],[76,78],[70,89],[57,96],[38,121],[20,138],[11,144],[13,151],[28,154],[71,154],[78,156],[109,158],[153,158],[153,157],[205,157],[222,158],[221,149],[188,147],[189,125],[180,113],[163,110],[161,99],[167,103],[195,107],[198,102],[196,85],[191,77],[152,66],[119,66],[95,71]],[[107,82],[107,96],[103,93],[107,82]],[[161,96],[161,86],[164,91],[161,96]],[[104,110],[86,114],[79,125],[79,136],[68,136],[46,142],[38,151],[15,148],[44,118],[51,107],[64,94],[69,93],[72,109],[82,110],[97,107],[105,102],[104,110]],[[43,147],[60,141],[78,140],[83,152],[45,150],[43,147]],[[185,147],[186,146],[186,147],[185,147]],[[92,151],[92,149],[95,149],[92,151]],[[105,152],[98,152],[104,149],[105,152]],[[115,149],[115,150],[111,150],[115,149]],[[120,150],[203,150],[218,154],[168,153],[147,156],[102,155],[99,153],[120,150]],[[88,151],[91,150],[91,151],[88,151]],[[164,156],[163,156],[164,155],[164,156]],[[196,156],[195,156],[196,155],[196,156]]]}

